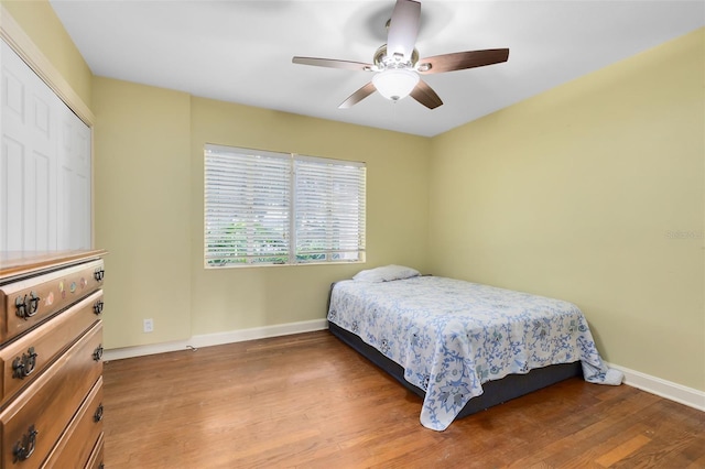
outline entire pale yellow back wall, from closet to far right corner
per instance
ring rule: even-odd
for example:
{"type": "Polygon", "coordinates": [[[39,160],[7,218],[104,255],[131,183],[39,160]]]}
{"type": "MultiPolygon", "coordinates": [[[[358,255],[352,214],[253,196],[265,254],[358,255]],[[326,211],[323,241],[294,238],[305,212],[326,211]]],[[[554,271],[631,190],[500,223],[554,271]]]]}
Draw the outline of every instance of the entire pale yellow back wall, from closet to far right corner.
{"type": "Polygon", "coordinates": [[[429,139],[100,77],[93,95],[107,348],[322,319],[330,283],[365,266],[204,269],[206,142],[367,162],[367,265],[425,266],[429,139]]]}

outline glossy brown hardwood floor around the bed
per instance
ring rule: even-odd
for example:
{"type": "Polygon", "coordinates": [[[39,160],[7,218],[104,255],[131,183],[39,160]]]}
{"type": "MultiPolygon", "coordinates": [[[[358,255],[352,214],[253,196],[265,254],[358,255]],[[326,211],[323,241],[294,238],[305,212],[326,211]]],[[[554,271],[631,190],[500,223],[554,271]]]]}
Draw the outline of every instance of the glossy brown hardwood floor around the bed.
{"type": "Polygon", "coordinates": [[[705,413],[571,379],[454,422],[330,336],[108,362],[118,468],[705,468],[705,413]]]}

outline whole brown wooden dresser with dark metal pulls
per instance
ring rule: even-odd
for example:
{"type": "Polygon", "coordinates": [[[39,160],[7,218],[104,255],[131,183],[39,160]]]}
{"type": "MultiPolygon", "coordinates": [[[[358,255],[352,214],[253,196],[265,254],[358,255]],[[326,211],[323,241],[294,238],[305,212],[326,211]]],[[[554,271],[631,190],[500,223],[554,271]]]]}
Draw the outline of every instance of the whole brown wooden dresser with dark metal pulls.
{"type": "Polygon", "coordinates": [[[104,255],[0,253],[0,468],[102,467],[104,255]]]}

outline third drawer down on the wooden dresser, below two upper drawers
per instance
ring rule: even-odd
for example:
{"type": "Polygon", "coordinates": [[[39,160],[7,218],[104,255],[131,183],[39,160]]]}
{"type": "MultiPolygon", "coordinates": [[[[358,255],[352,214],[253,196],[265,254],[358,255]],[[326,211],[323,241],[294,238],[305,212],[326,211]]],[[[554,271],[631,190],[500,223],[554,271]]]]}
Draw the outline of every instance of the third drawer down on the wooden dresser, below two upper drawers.
{"type": "Polygon", "coordinates": [[[0,414],[4,468],[37,468],[102,373],[98,321],[0,414]]]}

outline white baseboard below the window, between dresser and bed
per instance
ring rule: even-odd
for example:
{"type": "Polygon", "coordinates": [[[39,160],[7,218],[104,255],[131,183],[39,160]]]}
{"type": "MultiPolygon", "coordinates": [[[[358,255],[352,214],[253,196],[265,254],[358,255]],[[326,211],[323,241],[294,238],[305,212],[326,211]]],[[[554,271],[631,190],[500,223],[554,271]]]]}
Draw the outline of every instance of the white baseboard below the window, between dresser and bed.
{"type": "Polygon", "coordinates": [[[121,360],[124,358],[143,357],[178,350],[193,350],[199,347],[212,347],[224,343],[242,342],[246,340],[265,339],[268,337],[290,336],[292,334],[311,332],[313,330],[323,330],[327,328],[327,319],[313,319],[300,323],[280,324],[276,326],[253,327],[251,329],[193,336],[186,340],[172,342],[108,349],[102,353],[102,359],[104,361],[121,360]]]}

